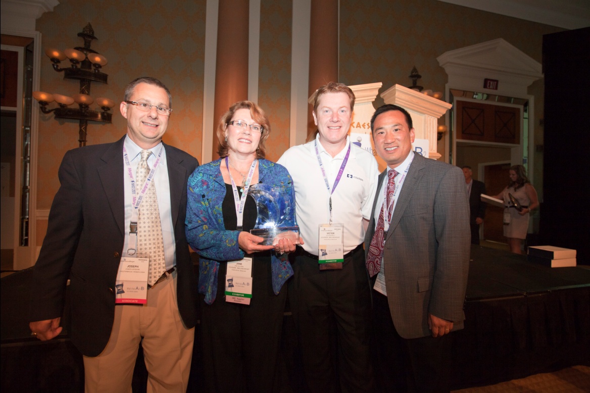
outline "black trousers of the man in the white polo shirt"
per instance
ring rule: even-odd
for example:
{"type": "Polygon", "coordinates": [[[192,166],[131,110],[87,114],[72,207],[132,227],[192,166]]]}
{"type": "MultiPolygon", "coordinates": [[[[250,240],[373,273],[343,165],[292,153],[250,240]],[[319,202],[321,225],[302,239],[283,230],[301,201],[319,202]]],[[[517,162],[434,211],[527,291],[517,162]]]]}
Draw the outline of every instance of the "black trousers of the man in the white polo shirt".
{"type": "Polygon", "coordinates": [[[300,254],[293,270],[289,303],[299,330],[307,387],[322,393],[372,391],[371,290],[364,250],[358,247],[346,256],[342,270],[319,270],[317,259],[300,254]],[[334,336],[337,359],[330,351],[334,336]]]}

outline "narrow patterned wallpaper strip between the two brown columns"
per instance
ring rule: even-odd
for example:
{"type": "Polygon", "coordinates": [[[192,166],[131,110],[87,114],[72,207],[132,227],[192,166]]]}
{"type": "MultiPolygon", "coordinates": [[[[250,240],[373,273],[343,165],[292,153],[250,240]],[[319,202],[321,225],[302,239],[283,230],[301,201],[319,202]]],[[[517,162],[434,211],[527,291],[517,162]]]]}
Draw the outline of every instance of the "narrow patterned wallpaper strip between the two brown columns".
{"type": "Polygon", "coordinates": [[[260,4],[260,63],[258,105],[270,119],[267,156],[277,161],[289,149],[291,105],[291,0],[262,0],[260,4]]]}

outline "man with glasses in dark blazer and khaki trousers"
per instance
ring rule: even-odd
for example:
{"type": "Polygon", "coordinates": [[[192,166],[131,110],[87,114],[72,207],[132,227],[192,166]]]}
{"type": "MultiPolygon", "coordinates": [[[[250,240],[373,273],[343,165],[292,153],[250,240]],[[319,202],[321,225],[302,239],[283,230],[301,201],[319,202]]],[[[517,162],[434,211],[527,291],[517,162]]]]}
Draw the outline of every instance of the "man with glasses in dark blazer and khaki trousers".
{"type": "Polygon", "coordinates": [[[60,189],[33,270],[30,327],[41,340],[61,332],[70,279],[69,335],[83,354],[87,392],[131,391],[140,342],[150,387],[186,390],[196,322],[186,183],[198,162],[162,143],[171,106],[159,80],[137,78],[120,104],[127,135],[70,150],[61,162],[60,189]],[[146,277],[137,285],[139,300],[116,305],[117,276],[136,263],[146,277]]]}

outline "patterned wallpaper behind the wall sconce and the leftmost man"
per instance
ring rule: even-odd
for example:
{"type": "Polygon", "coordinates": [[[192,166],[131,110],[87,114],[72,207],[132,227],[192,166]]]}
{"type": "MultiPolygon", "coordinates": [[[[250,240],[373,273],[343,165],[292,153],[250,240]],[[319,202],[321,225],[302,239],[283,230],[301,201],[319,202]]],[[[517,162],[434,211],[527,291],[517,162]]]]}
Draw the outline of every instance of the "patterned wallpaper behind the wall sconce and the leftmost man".
{"type": "MultiPolygon", "coordinates": [[[[87,145],[118,140],[126,132],[119,103],[127,83],[139,76],[162,80],[172,93],[174,112],[164,141],[201,159],[203,63],[206,0],[158,2],[104,0],[100,2],[60,0],[53,12],[37,19],[42,49],[83,46],[77,37],[88,22],[98,38],[91,48],[104,55],[103,67],[109,84],[92,83],[90,95],[108,97],[117,104],[113,123],[92,123],[87,145]]],[[[78,93],[76,80],[41,59],[41,90],[71,96],[78,93]]],[[[52,104],[54,105],[54,104],[52,104]]],[[[96,109],[91,107],[91,109],[96,109]]],[[[48,209],[59,187],[57,171],[64,153],[78,147],[77,120],[57,120],[40,115],[37,209],[48,209]]]]}

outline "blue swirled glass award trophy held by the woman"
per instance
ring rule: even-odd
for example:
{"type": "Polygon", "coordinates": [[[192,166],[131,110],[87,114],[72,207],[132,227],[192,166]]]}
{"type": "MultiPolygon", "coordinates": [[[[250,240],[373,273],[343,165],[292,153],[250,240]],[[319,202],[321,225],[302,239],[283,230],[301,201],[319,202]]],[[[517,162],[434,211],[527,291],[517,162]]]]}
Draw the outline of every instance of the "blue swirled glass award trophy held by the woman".
{"type": "Polygon", "coordinates": [[[299,227],[284,225],[294,206],[286,201],[278,189],[268,184],[253,184],[248,188],[248,195],[254,198],[258,216],[254,229],[250,233],[264,238],[260,244],[275,245],[281,239],[290,239],[299,244],[299,227]]]}

